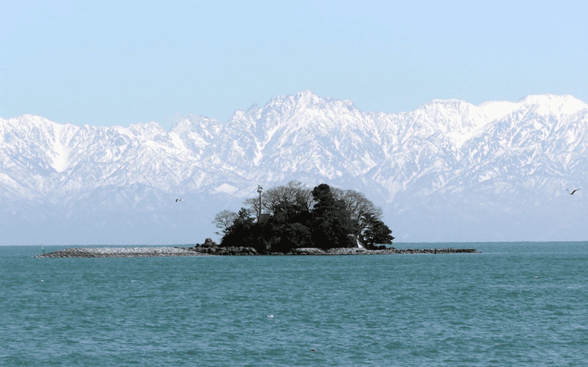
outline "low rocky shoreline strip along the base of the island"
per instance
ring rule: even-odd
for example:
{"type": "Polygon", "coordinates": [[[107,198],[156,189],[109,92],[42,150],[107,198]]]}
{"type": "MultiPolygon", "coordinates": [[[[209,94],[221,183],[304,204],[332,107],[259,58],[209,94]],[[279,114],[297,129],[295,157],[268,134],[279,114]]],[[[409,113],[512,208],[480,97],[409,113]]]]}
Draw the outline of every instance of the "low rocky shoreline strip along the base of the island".
{"type": "Polygon", "coordinates": [[[190,256],[303,256],[303,255],[392,255],[392,254],[475,254],[474,248],[426,248],[398,249],[388,247],[380,250],[366,248],[295,248],[290,252],[260,253],[252,247],[219,247],[218,245],[196,245],[194,247],[78,247],[66,248],[35,258],[102,258],[102,257],[190,257],[190,256]]]}

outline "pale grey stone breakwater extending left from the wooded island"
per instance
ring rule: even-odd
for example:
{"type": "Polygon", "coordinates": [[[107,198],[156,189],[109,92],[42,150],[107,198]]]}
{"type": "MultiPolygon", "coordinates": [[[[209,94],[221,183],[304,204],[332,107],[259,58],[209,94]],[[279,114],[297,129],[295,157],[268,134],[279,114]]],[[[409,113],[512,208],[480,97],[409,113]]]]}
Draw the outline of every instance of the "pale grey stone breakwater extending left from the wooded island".
{"type": "Polygon", "coordinates": [[[36,258],[69,257],[171,257],[204,256],[180,247],[79,247],[37,255],[36,258]]]}

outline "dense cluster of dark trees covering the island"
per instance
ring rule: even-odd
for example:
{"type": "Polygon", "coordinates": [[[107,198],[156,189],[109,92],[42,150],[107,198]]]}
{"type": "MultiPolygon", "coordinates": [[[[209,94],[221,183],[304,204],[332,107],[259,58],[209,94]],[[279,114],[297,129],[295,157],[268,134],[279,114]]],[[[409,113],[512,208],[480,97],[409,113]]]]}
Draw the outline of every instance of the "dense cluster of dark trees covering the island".
{"type": "Polygon", "coordinates": [[[238,213],[216,214],[213,223],[221,229],[221,247],[253,247],[262,253],[359,244],[377,249],[383,248],[378,244],[392,244],[394,239],[381,219],[382,209],[354,190],[327,184],[310,190],[290,181],[265,191],[261,203],[254,197],[245,200],[245,205],[238,213]]]}

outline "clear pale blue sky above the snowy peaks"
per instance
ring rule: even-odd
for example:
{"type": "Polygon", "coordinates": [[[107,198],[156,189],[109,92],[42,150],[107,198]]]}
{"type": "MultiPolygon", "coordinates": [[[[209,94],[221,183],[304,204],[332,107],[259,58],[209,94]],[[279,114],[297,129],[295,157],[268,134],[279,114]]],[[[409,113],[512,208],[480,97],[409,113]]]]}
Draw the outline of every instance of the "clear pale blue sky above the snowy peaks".
{"type": "Polygon", "coordinates": [[[0,116],[168,128],[305,89],[383,112],[588,100],[588,2],[96,3],[0,0],[0,116]]]}

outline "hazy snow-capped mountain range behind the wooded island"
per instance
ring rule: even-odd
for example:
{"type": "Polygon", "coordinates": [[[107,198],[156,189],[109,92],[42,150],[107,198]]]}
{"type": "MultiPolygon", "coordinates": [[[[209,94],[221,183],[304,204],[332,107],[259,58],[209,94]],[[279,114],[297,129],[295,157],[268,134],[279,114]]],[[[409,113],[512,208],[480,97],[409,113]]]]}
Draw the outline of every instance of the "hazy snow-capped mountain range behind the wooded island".
{"type": "Polygon", "coordinates": [[[362,191],[398,240],[586,240],[586,195],[565,188],[588,191],[588,105],[381,113],[305,91],[169,131],[0,118],[0,244],[202,242],[216,212],[289,180],[362,191]]]}

